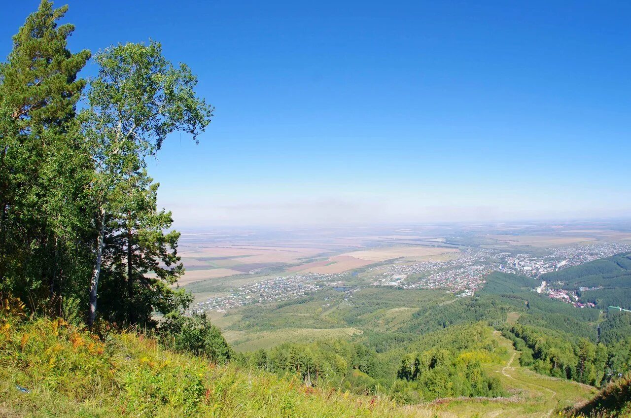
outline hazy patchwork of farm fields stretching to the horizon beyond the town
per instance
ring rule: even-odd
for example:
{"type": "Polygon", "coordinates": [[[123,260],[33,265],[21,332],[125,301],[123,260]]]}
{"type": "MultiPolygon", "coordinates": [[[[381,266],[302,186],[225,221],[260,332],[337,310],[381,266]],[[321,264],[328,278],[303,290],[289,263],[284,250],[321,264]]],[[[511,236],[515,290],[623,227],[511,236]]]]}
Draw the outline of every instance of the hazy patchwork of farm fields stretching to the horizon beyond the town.
{"type": "MultiPolygon", "coordinates": [[[[515,224],[488,227],[327,229],[228,234],[188,234],[179,254],[186,267],[180,284],[241,275],[339,274],[377,263],[451,261],[466,246],[546,251],[599,241],[631,242],[631,234],[606,227],[515,224]],[[500,234],[501,231],[512,231],[500,234]],[[456,234],[456,236],[451,236],[456,234]]],[[[241,279],[238,278],[237,281],[241,279]]],[[[225,280],[221,280],[225,283],[225,280]]]]}

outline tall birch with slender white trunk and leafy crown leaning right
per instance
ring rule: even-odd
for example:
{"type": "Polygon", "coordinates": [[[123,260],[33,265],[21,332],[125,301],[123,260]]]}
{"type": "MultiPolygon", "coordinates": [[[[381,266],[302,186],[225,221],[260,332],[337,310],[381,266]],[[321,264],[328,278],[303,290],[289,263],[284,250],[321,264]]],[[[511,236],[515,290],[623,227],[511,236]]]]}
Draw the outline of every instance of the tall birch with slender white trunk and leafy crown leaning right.
{"type": "Polygon", "coordinates": [[[168,134],[180,131],[197,141],[213,107],[196,96],[197,78],[186,64],[175,66],[155,41],[119,44],[97,54],[98,76],[91,80],[88,108],[81,114],[95,174],[95,263],[90,278],[88,325],[97,313],[98,281],[109,222],[126,205],[125,189],[142,176],[146,158],[156,155],[168,134]]]}

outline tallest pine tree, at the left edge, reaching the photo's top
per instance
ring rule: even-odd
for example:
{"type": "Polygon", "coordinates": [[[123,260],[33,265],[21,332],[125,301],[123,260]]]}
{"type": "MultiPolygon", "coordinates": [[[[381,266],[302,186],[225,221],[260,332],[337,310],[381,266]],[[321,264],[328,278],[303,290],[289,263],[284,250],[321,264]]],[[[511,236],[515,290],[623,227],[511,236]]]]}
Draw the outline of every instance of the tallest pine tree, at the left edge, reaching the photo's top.
{"type": "MultiPolygon", "coordinates": [[[[73,121],[89,51],[72,54],[67,6],[42,0],[0,64],[0,289],[36,304],[60,292],[82,253],[78,188],[86,175],[73,121]]],[[[76,270],[76,269],[75,269],[76,270]]]]}

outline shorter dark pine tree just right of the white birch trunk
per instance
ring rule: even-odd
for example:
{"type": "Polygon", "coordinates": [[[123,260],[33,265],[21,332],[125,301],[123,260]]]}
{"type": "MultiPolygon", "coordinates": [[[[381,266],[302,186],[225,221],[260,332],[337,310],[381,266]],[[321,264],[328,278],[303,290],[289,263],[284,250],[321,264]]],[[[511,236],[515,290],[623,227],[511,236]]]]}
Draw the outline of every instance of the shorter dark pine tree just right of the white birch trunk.
{"type": "Polygon", "coordinates": [[[179,232],[171,213],[158,210],[158,184],[142,170],[125,183],[125,200],[107,227],[100,312],[117,323],[153,326],[151,314],[170,312],[177,278],[184,272],[177,256],[179,232]]]}

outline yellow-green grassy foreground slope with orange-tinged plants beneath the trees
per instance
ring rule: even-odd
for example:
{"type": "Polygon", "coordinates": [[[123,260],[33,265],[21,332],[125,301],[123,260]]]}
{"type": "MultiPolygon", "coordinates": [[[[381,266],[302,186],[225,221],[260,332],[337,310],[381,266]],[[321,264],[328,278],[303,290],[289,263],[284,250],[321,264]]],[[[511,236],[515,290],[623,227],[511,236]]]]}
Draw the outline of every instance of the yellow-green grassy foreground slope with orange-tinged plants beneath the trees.
{"type": "Polygon", "coordinates": [[[0,417],[121,416],[454,417],[216,366],[135,333],[102,341],[61,319],[0,317],[0,417]]]}

